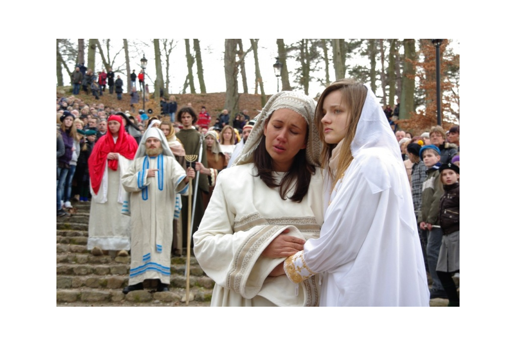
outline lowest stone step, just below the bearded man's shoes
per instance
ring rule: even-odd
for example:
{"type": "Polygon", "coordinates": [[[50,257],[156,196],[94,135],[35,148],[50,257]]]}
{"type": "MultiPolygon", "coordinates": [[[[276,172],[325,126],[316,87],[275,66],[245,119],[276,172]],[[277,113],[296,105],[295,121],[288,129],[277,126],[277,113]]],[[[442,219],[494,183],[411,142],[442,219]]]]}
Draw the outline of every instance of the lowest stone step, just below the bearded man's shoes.
{"type": "MultiPolygon", "coordinates": [[[[92,305],[99,305],[102,303],[112,302],[132,302],[138,304],[155,303],[155,304],[167,304],[167,303],[181,303],[186,299],[186,290],[182,288],[171,288],[170,291],[166,292],[154,292],[155,290],[138,290],[131,291],[128,294],[123,294],[122,289],[57,289],[56,301],[57,304],[68,304],[68,303],[93,303],[92,305]]],[[[212,290],[194,287],[190,289],[190,302],[197,302],[192,305],[195,306],[209,306],[209,301],[212,298],[212,290]]]]}

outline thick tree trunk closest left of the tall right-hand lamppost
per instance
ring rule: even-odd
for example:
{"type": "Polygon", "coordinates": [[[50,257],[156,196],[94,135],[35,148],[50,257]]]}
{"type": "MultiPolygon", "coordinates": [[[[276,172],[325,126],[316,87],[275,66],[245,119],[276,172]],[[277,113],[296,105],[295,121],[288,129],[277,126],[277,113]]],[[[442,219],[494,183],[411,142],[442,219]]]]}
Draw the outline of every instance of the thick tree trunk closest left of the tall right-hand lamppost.
{"type": "Polygon", "coordinates": [[[404,39],[405,62],[403,65],[403,80],[401,82],[401,104],[399,109],[399,119],[409,119],[414,109],[415,91],[415,57],[416,47],[414,39],[404,39]]]}

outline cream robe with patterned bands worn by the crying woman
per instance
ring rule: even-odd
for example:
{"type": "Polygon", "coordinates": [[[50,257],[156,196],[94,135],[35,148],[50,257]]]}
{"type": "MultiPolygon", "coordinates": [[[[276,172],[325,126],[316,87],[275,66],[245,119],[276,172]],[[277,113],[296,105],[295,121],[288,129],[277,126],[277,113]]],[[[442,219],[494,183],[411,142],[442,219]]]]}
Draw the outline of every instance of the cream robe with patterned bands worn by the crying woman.
{"type": "MultiPolygon", "coordinates": [[[[283,173],[276,173],[281,178],[283,173]]],[[[193,235],[193,251],[216,285],[212,306],[316,306],[318,276],[291,283],[269,273],[285,258],[261,254],[286,228],[288,235],[318,238],[323,220],[322,176],[316,169],[302,202],[282,200],[278,188],[254,177],[253,163],[224,169],[193,235]]]]}

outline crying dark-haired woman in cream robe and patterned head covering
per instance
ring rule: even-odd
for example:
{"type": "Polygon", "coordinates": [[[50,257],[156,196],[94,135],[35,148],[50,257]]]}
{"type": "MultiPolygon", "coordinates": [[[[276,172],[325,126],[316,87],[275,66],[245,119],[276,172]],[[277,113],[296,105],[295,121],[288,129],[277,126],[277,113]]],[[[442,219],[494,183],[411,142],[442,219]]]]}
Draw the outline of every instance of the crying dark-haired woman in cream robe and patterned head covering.
{"type": "Polygon", "coordinates": [[[283,91],[263,108],[233,167],[222,170],[193,251],[216,285],[212,306],[315,306],[318,277],[292,284],[286,257],[322,225],[315,102],[283,91]]]}

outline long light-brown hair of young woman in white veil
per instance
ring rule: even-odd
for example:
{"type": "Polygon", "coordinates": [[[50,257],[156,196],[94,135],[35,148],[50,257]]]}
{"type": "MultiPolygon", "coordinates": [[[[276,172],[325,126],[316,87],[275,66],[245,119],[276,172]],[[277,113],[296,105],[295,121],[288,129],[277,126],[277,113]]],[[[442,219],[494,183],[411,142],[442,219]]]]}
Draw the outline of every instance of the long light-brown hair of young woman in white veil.
{"type": "Polygon", "coordinates": [[[317,107],[315,108],[315,122],[319,126],[319,138],[322,142],[321,168],[327,169],[330,174],[333,180],[332,188],[334,188],[337,183],[335,176],[343,176],[344,172],[353,160],[353,155],[351,154],[351,142],[357,132],[357,125],[360,120],[360,115],[362,114],[362,108],[364,107],[366,96],[367,88],[364,84],[353,79],[340,79],[334,81],[330,86],[322,91],[319,101],[317,102],[317,107]],[[324,103],[328,94],[336,90],[341,92],[341,102],[349,109],[350,117],[348,119],[348,132],[344,136],[344,139],[342,139],[342,148],[338,157],[337,168],[336,171],[332,171],[329,167],[329,163],[332,150],[337,146],[337,144],[328,144],[324,140],[324,125],[322,124],[321,119],[325,116],[322,112],[322,103],[324,103]]]}

